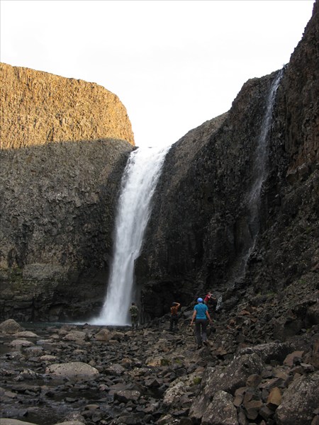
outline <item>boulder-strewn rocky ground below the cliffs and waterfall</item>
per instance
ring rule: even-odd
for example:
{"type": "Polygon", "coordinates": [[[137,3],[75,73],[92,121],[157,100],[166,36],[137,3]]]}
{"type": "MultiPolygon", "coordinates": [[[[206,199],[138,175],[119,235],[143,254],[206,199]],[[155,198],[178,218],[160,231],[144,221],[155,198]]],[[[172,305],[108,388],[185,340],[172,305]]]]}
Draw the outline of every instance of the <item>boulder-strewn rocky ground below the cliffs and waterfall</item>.
{"type": "Polygon", "coordinates": [[[298,290],[228,295],[198,350],[191,307],[176,334],[2,322],[1,425],[319,424],[318,288],[298,290]]]}

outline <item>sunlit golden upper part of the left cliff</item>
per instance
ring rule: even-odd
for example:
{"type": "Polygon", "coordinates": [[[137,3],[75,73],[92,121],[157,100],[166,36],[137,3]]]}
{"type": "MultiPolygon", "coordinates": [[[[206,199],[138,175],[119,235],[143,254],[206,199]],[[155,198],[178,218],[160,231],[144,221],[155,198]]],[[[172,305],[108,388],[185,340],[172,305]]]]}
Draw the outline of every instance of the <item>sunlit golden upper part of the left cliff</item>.
{"type": "Polygon", "coordinates": [[[118,96],[94,83],[0,64],[0,146],[113,138],[134,145],[118,96]]]}

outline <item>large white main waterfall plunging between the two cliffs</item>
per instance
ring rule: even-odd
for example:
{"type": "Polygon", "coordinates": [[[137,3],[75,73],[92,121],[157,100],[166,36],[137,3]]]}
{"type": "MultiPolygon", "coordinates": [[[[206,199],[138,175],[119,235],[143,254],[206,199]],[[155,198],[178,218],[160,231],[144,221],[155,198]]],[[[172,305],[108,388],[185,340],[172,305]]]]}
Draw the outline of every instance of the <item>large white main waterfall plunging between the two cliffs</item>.
{"type": "Polygon", "coordinates": [[[134,263],[151,212],[151,200],[169,147],[138,148],[130,154],[116,215],[113,263],[101,314],[91,324],[124,326],[133,301],[134,263]]]}

